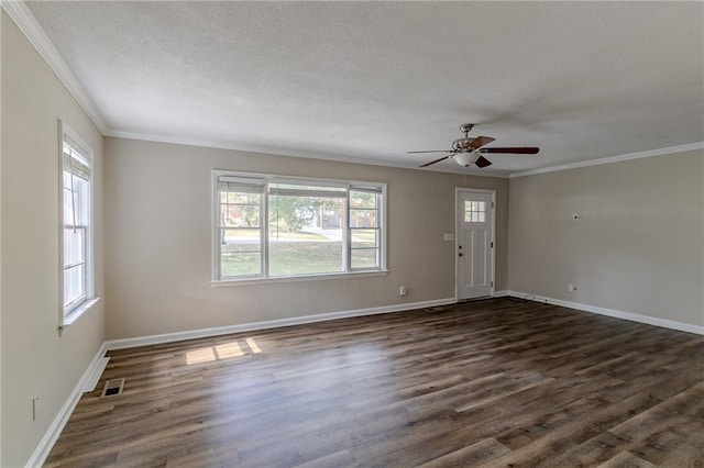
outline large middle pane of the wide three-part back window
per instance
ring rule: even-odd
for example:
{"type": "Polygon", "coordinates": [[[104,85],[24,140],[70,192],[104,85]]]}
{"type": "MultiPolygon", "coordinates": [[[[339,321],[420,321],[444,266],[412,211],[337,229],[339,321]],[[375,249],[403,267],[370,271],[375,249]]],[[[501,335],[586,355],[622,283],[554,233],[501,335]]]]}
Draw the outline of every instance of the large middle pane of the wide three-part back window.
{"type": "Polygon", "coordinates": [[[270,275],[295,276],[343,271],[343,199],[311,196],[311,193],[330,193],[339,190],[312,186],[289,188],[279,185],[276,188],[280,189],[279,192],[286,190],[287,193],[305,192],[305,194],[270,194],[270,275]]]}

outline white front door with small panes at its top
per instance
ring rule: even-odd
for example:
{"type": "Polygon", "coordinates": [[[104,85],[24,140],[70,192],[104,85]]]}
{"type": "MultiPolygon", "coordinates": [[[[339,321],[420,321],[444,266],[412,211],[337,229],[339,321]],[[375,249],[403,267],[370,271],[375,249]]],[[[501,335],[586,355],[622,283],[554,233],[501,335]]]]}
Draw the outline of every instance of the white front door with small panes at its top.
{"type": "Polygon", "coordinates": [[[494,193],[458,189],[458,300],[490,297],[494,289],[494,193]]]}

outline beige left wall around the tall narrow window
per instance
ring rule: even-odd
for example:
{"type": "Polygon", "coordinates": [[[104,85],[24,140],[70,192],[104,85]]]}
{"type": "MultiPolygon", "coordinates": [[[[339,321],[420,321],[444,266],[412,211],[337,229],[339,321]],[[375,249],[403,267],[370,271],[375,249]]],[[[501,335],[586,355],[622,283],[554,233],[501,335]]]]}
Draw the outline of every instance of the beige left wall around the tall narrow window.
{"type": "Polygon", "coordinates": [[[2,12],[3,467],[28,461],[105,339],[105,302],[58,336],[59,118],[95,151],[96,289],[102,294],[102,136],[2,12]]]}

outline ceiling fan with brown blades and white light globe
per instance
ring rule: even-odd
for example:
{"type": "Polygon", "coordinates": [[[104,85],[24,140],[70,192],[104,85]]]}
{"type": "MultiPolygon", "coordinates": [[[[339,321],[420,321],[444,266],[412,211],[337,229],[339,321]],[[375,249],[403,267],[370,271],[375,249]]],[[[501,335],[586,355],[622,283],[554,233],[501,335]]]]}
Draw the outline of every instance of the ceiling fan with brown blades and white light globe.
{"type": "Polygon", "coordinates": [[[458,138],[452,142],[452,149],[433,149],[427,152],[406,152],[406,154],[416,154],[416,153],[447,153],[447,156],[442,156],[441,158],[431,160],[430,163],[426,163],[420,167],[428,167],[436,163],[440,163],[441,160],[452,158],[460,166],[468,167],[470,165],[476,165],[476,167],[482,168],[486,166],[491,166],[492,161],[486,159],[483,155],[490,153],[506,153],[506,154],[517,154],[517,155],[535,155],[540,151],[540,148],[528,147],[528,146],[519,146],[519,147],[504,147],[504,148],[485,148],[484,145],[488,145],[494,141],[491,136],[477,136],[475,138],[471,138],[468,134],[474,126],[473,123],[463,123],[460,125],[460,130],[464,132],[464,138],[458,138]]]}

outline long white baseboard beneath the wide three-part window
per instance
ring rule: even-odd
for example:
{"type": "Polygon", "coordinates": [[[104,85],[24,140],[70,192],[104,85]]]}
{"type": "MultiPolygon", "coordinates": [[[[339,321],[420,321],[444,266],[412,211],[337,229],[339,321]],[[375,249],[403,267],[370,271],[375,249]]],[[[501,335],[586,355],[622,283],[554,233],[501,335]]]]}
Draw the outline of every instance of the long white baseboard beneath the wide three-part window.
{"type": "Polygon", "coordinates": [[[156,345],[162,343],[182,342],[184,339],[206,338],[209,336],[228,335],[231,333],[253,332],[257,330],[277,328],[280,326],[302,325],[307,323],[324,322],[329,320],[349,319],[353,316],[376,315],[383,313],[410,311],[417,309],[433,308],[438,305],[453,304],[454,298],[438,299],[433,301],[408,302],[403,304],[384,305],[380,308],[356,309],[341,312],[329,312],[315,315],[296,316],[292,319],[268,320],[265,322],[252,322],[241,325],[226,325],[213,328],[201,328],[188,332],[165,333],[160,335],[139,336],[135,338],[110,339],[106,342],[108,350],[124,349],[136,346],[156,345]]]}

